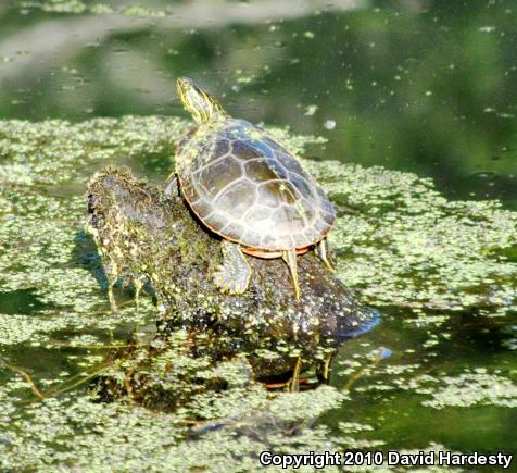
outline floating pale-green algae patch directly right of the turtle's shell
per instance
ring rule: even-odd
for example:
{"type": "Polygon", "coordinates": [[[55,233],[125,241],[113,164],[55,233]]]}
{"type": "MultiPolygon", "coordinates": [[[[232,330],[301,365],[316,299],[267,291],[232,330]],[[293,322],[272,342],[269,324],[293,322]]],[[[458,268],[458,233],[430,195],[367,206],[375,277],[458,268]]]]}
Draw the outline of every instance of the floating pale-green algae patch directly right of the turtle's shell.
{"type": "Polygon", "coordinates": [[[450,202],[429,179],[326,162],[313,172],[343,202],[330,242],[339,274],[375,306],[515,310],[517,215],[496,201],[450,202]],[[350,209],[350,210],[349,210],[350,209]],[[488,289],[490,288],[490,289],[488,289]]]}

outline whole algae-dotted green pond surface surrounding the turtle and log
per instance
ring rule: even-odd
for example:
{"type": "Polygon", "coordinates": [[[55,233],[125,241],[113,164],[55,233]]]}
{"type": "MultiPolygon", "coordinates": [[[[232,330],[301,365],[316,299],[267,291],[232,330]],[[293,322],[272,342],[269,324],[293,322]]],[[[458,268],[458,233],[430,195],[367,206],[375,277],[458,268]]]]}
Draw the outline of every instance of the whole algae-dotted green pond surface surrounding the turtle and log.
{"type": "Polygon", "coordinates": [[[514,1],[20,0],[0,15],[0,469],[236,471],[265,446],[517,453],[514,1]],[[156,315],[122,289],[111,314],[83,194],[108,163],[165,179],[189,120],[178,75],[289,127],[338,208],[339,277],[382,314],[330,388],[292,398],[318,416],[298,438],[184,441],[174,415],[91,404],[72,379],[156,315]],[[24,373],[74,389],[34,402],[24,373]]]}

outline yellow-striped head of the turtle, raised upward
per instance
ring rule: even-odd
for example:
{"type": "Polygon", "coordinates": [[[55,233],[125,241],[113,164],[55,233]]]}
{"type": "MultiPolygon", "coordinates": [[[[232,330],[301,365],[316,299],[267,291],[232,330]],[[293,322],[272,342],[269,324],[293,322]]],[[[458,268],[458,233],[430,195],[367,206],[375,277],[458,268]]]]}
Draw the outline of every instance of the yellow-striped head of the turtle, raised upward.
{"type": "Polygon", "coordinates": [[[199,88],[191,78],[179,77],[176,86],[181,103],[192,114],[197,123],[212,122],[225,115],[219,102],[209,92],[199,88]]]}

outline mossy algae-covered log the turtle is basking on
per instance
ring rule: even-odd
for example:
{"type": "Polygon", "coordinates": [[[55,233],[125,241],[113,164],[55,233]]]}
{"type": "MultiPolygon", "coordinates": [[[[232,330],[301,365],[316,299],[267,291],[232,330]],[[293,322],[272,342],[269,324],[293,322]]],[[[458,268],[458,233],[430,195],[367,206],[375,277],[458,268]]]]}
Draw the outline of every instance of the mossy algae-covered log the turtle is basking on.
{"type": "Polygon", "coordinates": [[[171,326],[223,333],[219,350],[249,353],[262,375],[289,371],[299,352],[305,361],[328,359],[325,352],[371,322],[314,252],[299,258],[300,300],[280,259],[248,258],[249,289],[241,296],[220,294],[212,278],[222,264],[219,240],[174,191],[148,186],[127,170],[97,173],[88,209],[87,227],[112,282],[151,283],[171,326]],[[285,354],[281,362],[278,353],[285,354]]]}

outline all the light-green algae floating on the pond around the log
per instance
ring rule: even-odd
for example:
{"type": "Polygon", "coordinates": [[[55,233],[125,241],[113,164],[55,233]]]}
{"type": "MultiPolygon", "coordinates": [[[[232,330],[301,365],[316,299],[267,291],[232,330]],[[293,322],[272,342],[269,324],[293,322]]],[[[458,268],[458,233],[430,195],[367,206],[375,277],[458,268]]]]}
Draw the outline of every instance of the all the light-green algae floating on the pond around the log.
{"type": "MultiPolygon", "coordinates": [[[[117,288],[119,302],[127,303],[117,314],[111,312],[100,258],[83,233],[81,194],[91,174],[109,163],[163,155],[172,169],[174,146],[188,127],[177,119],[130,116],[78,124],[0,122],[0,291],[30,289],[38,301],[30,313],[0,314],[0,357],[30,370],[43,391],[58,389],[66,373],[100,370],[123,382],[130,366],[104,366],[102,346],[125,344],[136,324],[141,344],[153,338],[147,327],[160,308],[150,297],[137,308],[130,292],[117,288]],[[31,350],[61,350],[63,345],[60,363],[50,370],[30,359],[31,350]]],[[[299,152],[318,141],[277,133],[299,152]]],[[[238,361],[186,361],[187,374],[196,369],[207,386],[225,379],[226,389],[192,395],[180,376],[169,384],[159,379],[173,393],[185,389],[185,403],[174,412],[156,412],[124,397],[92,402],[94,395],[84,387],[26,403],[30,384],[2,364],[0,468],[255,470],[256,456],[265,449],[382,448],[388,438],[404,448],[403,440],[377,432],[384,415],[393,421],[383,412],[387,401],[404,402],[424,416],[449,408],[470,412],[477,406],[492,407],[499,415],[515,407],[515,369],[504,351],[456,357],[458,369],[446,348],[461,343],[465,319],[458,318],[465,313],[510,324],[517,262],[506,254],[517,245],[516,214],[493,201],[450,202],[429,179],[413,174],[338,162],[305,160],[304,165],[338,207],[331,245],[339,276],[363,302],[398,310],[387,316],[388,339],[353,340],[343,348],[332,386],[298,394],[270,394],[250,384],[238,361]],[[404,318],[402,325],[395,325],[396,318],[404,318]],[[390,337],[390,331],[399,331],[398,336],[390,337]],[[396,354],[378,363],[379,345],[387,341],[396,354]],[[336,410],[345,412],[339,425],[324,418],[325,423],[311,427],[313,418],[336,410]],[[203,430],[211,422],[217,428],[203,430]],[[198,431],[191,438],[193,425],[198,431]]],[[[515,340],[515,331],[506,340],[510,337],[515,340]]],[[[167,360],[154,362],[163,370],[167,360]]],[[[431,440],[439,440],[438,434],[428,433],[420,449],[439,448],[431,440]]]]}

